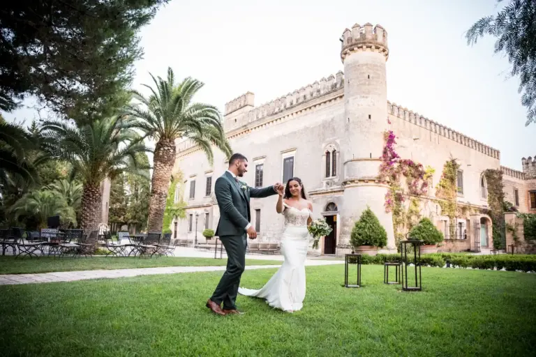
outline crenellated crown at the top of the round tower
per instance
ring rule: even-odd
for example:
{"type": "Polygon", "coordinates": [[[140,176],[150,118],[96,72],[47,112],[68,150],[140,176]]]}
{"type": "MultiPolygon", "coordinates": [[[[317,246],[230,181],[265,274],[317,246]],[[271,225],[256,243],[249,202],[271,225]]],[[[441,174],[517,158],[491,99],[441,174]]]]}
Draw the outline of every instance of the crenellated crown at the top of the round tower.
{"type": "Polygon", "coordinates": [[[363,26],[355,24],[352,29],[345,29],[341,38],[341,60],[354,52],[370,51],[380,52],[385,56],[385,61],[389,58],[389,47],[387,47],[387,31],[377,24],[373,26],[366,23],[363,26]]]}

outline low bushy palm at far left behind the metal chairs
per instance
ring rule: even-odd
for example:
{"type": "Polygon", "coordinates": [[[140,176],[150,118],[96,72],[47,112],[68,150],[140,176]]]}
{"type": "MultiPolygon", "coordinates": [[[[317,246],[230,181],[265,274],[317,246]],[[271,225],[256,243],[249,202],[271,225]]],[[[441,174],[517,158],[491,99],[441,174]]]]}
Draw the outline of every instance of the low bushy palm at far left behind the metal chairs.
{"type": "Polygon", "coordinates": [[[15,220],[21,215],[36,218],[38,229],[47,227],[47,218],[59,215],[62,225],[77,225],[76,212],[69,206],[65,197],[52,190],[31,191],[20,198],[9,211],[14,213],[15,220]]]}

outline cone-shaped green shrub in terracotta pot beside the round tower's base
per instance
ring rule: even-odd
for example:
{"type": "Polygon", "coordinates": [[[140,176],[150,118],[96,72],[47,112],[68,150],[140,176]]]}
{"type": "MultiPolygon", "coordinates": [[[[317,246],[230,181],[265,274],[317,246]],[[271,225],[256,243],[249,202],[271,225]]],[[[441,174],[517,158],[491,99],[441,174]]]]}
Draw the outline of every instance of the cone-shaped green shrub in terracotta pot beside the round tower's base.
{"type": "Polygon", "coordinates": [[[352,229],[350,244],[357,254],[377,255],[387,245],[387,231],[368,206],[352,229]]]}

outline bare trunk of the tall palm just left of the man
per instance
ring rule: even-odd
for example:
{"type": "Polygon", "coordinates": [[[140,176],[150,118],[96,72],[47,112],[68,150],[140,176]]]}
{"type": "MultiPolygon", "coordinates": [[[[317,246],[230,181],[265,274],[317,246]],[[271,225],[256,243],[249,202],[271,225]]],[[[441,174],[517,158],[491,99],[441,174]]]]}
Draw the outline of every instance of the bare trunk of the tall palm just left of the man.
{"type": "Polygon", "coordinates": [[[170,179],[175,163],[175,142],[160,139],[154,148],[153,177],[151,179],[151,197],[149,199],[149,218],[147,231],[162,231],[165,200],[168,197],[170,179]]]}

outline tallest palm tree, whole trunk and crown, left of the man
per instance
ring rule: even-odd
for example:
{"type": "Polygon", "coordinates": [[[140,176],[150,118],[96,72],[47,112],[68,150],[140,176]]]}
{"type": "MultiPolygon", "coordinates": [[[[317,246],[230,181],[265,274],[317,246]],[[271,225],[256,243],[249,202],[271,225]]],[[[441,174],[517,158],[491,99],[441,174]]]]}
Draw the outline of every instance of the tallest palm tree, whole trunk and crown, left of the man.
{"type": "Polygon", "coordinates": [[[175,140],[189,138],[198,144],[212,163],[212,146],[218,147],[226,155],[232,153],[221,124],[221,115],[212,105],[192,102],[195,93],[204,86],[198,79],[187,77],[175,83],[173,71],[168,68],[167,80],[155,79],[155,88],[146,86],[152,92],[146,98],[139,92],[134,97],[142,107],[131,105],[126,114],[141,119],[139,129],[146,137],[156,140],[154,168],[149,199],[149,231],[162,231],[165,201],[168,195],[172,168],[175,161],[175,140]]]}

